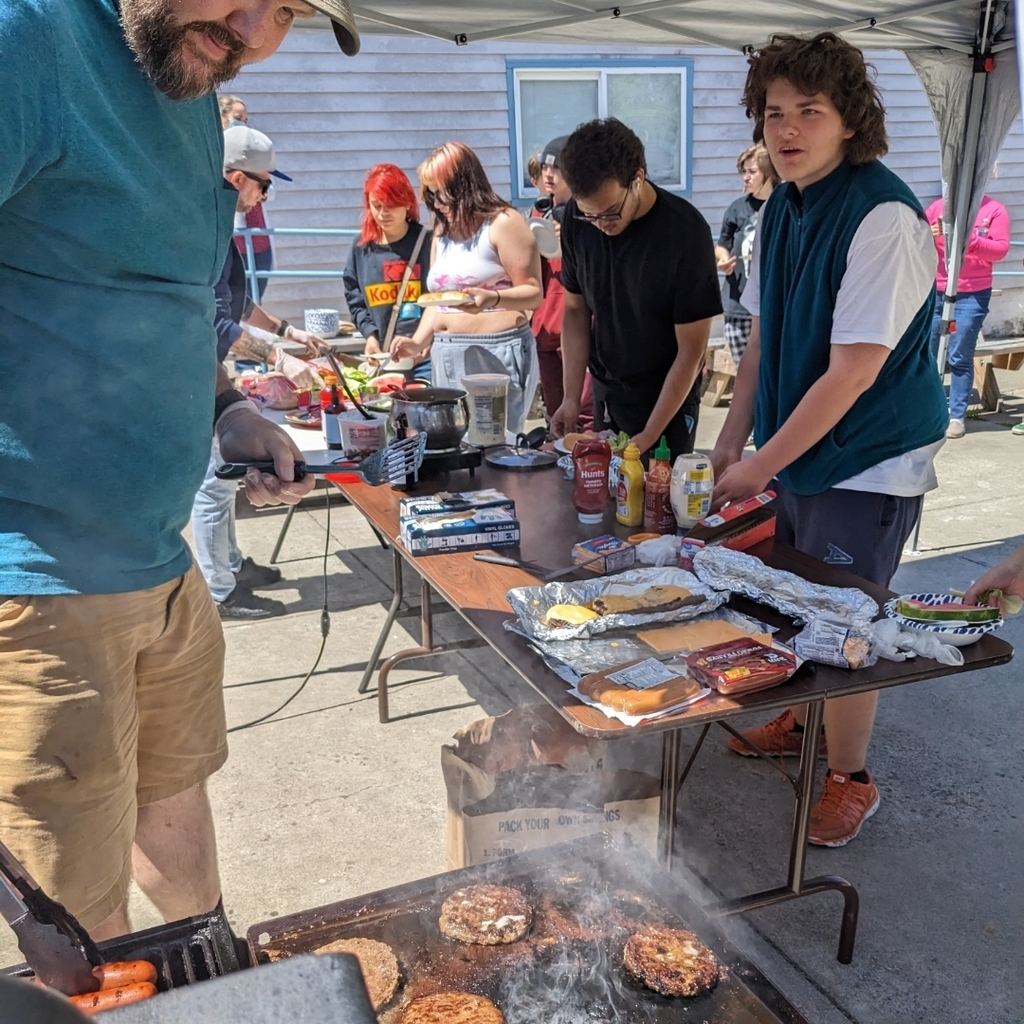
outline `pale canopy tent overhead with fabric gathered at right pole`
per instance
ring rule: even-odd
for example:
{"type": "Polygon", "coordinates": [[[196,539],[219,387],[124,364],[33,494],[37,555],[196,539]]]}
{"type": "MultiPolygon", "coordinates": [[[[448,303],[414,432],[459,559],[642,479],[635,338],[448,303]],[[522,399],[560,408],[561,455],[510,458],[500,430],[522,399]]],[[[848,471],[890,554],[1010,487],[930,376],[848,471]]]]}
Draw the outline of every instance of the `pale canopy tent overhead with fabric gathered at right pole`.
{"type": "MultiPolygon", "coordinates": [[[[773,33],[835,32],[902,50],[928,95],[942,154],[948,285],[938,365],[955,331],[956,282],[992,165],[1021,109],[1024,0],[354,0],[368,33],[472,46],[489,39],[715,46],[744,53],[773,33]]],[[[920,520],[918,526],[920,527],[920,520]]],[[[916,528],[910,550],[918,547],[916,528]]]]}

